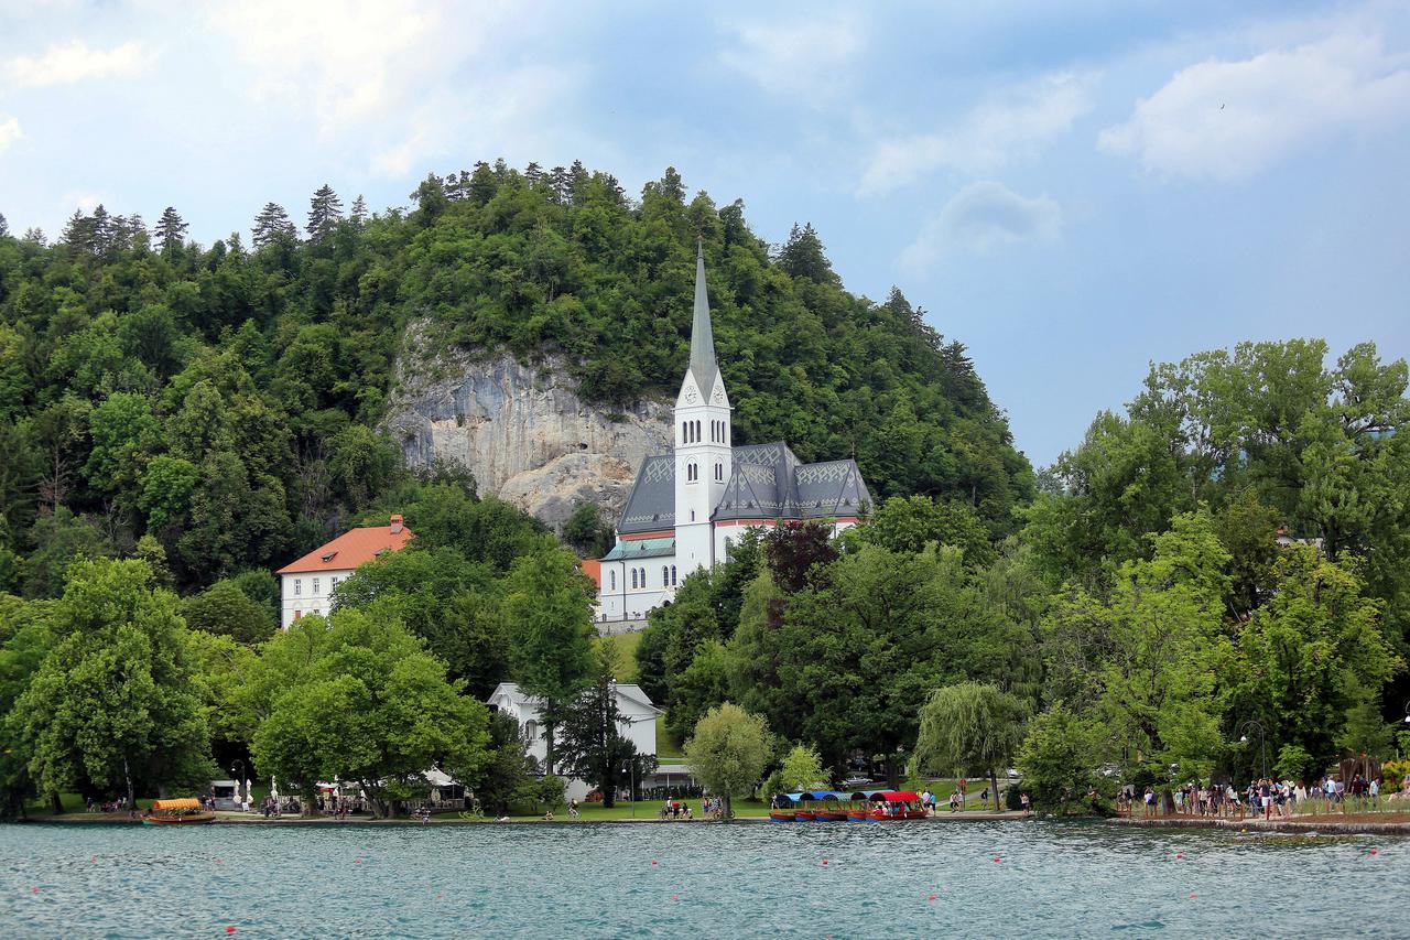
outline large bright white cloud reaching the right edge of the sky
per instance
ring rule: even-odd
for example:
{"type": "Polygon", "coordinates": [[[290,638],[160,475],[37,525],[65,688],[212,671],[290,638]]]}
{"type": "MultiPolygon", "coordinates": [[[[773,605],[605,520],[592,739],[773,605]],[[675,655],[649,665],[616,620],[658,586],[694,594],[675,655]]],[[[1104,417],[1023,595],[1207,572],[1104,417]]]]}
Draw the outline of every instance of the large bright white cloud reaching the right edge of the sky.
{"type": "Polygon", "coordinates": [[[1407,116],[1410,56],[1386,55],[1379,37],[1342,34],[1182,69],[1097,145],[1159,174],[1232,181],[1320,138],[1407,116]]]}

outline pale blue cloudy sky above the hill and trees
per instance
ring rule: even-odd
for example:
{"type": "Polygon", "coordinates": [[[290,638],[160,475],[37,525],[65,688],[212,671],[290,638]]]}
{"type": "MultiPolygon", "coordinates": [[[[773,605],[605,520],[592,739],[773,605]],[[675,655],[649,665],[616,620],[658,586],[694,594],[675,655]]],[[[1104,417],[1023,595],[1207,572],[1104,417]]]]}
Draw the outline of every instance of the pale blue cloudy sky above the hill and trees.
{"type": "Polygon", "coordinates": [[[1410,354],[1410,4],[854,6],[0,0],[0,213],[209,243],[323,182],[675,165],[901,287],[1039,464],[1151,360],[1410,354]]]}

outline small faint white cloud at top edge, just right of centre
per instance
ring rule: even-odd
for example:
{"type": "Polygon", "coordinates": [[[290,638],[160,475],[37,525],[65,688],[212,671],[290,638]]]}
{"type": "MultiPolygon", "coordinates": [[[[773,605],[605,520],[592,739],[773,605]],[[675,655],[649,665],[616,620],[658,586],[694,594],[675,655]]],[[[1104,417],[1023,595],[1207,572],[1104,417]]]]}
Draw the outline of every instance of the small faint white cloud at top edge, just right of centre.
{"type": "MultiPolygon", "coordinates": [[[[815,13],[809,14],[816,17],[815,13]]],[[[721,62],[770,95],[821,106],[846,86],[847,64],[866,48],[862,21],[847,13],[808,21],[746,23],[726,27],[737,45],[721,62]]]]}

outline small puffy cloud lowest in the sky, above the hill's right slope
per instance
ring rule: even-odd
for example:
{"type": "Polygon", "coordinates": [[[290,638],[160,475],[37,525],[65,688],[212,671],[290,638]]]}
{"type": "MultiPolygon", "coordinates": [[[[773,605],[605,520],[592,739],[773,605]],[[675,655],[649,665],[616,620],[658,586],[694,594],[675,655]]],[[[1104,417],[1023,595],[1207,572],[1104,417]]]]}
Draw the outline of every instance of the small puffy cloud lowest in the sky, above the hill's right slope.
{"type": "Polygon", "coordinates": [[[901,253],[901,268],[921,274],[940,258],[988,251],[1018,241],[1052,241],[1062,230],[1062,207],[1048,196],[1028,199],[1000,182],[973,182],[921,227],[901,253]]]}

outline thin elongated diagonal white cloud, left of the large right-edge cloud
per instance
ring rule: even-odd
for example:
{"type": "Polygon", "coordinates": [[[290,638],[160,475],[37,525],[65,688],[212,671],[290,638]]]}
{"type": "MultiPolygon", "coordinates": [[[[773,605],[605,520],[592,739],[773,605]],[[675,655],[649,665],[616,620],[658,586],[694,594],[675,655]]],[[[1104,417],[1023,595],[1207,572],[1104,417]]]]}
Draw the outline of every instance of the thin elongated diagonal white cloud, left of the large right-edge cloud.
{"type": "Polygon", "coordinates": [[[857,192],[890,192],[940,168],[977,175],[1031,158],[1091,110],[1096,80],[1091,73],[1046,75],[990,97],[956,127],[881,141],[857,192]]]}

